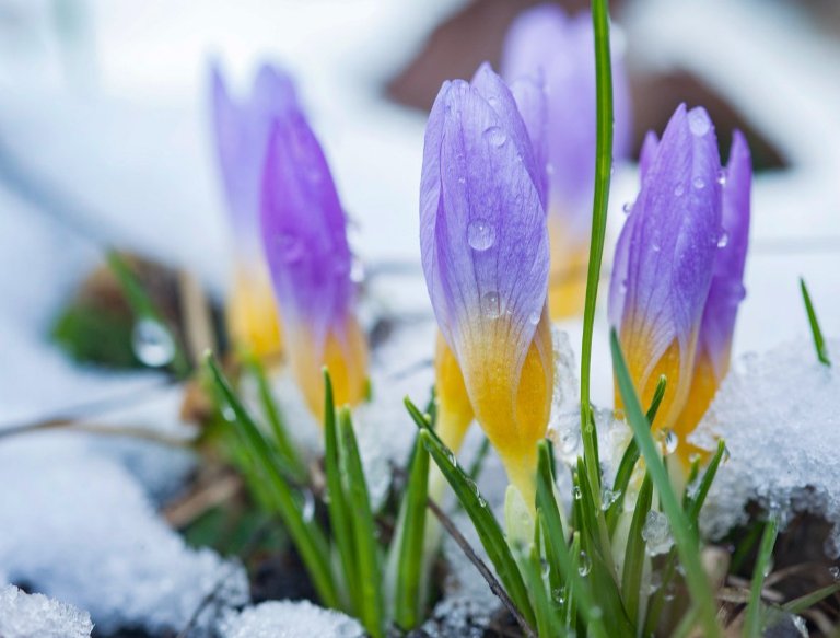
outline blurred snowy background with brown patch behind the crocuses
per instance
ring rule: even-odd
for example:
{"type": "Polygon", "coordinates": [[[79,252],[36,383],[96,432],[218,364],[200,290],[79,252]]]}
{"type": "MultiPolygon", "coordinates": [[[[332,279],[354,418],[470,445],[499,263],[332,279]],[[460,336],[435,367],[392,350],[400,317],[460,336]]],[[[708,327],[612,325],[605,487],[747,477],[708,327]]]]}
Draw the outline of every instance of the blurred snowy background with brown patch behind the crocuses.
{"type": "MultiPolygon", "coordinates": [[[[224,294],[231,245],[210,126],[213,60],[242,90],[264,60],[295,76],[354,251],[369,269],[413,270],[416,285],[395,310],[428,313],[417,240],[427,109],[443,80],[469,78],[482,60],[497,65],[509,24],[532,4],[0,0],[0,427],[150,382],[80,367],[50,338],[106,248],[224,294]]],[[[724,158],[735,127],[751,146],[754,224],[736,351],[808,334],[801,275],[824,330],[836,335],[840,4],[625,0],[611,9],[614,46],[630,72],[633,158],[644,132],[661,131],[682,101],[709,109],[724,158]]],[[[618,166],[611,241],[637,188],[635,166],[618,166]]],[[[606,333],[598,338],[605,380],[595,399],[609,403],[606,333]]]]}

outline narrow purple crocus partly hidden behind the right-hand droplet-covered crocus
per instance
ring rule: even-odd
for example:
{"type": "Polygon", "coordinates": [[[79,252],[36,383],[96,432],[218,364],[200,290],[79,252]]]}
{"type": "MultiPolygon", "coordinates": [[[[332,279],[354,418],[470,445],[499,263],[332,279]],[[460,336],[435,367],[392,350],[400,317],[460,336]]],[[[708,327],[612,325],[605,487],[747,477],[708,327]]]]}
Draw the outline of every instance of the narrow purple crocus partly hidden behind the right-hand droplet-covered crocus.
{"type": "Polygon", "coordinates": [[[746,293],[744,265],[749,241],[752,165],[749,147],[739,131],[733,136],[730,162],[721,178],[723,231],[718,240],[712,283],[700,323],[691,388],[677,419],[677,430],[684,436],[700,422],[730,370],[735,317],[746,293]]]}

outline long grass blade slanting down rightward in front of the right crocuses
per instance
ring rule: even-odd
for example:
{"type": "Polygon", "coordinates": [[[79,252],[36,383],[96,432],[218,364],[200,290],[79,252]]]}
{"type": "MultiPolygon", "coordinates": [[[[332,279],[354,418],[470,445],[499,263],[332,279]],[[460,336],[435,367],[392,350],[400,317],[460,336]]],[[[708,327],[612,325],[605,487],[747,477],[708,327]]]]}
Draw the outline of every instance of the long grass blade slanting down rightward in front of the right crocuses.
{"type": "Polygon", "coordinates": [[[612,369],[618,381],[619,392],[625,405],[625,411],[630,427],[633,429],[639,450],[648,465],[648,472],[653,480],[653,485],[660,494],[660,500],[665,514],[670,523],[674,541],[677,545],[677,552],[686,570],[686,583],[689,592],[698,607],[699,620],[703,627],[707,638],[720,636],[720,626],[715,617],[714,599],[709,587],[709,581],[703,571],[700,560],[699,542],[697,533],[691,526],[686,513],[682,511],[681,503],[674,494],[670,485],[670,477],[665,464],[662,462],[656,444],[651,436],[648,420],[642,413],[642,406],[639,404],[639,397],[635,394],[633,382],[627,369],[625,356],[621,352],[621,346],[618,343],[616,330],[610,330],[610,349],[612,351],[612,369]]]}

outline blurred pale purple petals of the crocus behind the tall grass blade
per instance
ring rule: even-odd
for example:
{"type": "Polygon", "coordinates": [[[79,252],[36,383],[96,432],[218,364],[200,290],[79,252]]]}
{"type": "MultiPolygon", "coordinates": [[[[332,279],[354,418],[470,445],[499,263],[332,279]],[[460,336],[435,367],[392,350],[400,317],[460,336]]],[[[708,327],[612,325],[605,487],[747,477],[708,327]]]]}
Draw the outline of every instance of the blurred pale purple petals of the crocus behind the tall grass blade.
{"type": "MultiPolygon", "coordinates": [[[[553,4],[524,11],[511,26],[502,63],[508,80],[542,74],[547,92],[549,201],[568,227],[588,232],[595,183],[596,88],[592,19],[569,18],[553,4]]],[[[627,154],[630,100],[619,55],[612,60],[614,155],[627,154]]]]}

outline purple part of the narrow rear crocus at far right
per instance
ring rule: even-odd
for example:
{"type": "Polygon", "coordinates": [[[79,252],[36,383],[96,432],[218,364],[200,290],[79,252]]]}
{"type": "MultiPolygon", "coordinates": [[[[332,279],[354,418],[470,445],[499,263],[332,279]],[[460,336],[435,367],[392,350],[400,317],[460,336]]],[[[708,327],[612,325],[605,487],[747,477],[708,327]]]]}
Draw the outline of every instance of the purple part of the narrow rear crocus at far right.
{"type": "Polygon", "coordinates": [[[740,131],[736,130],[723,186],[723,231],[700,328],[699,347],[710,357],[719,381],[728,369],[735,317],[745,297],[744,265],[749,242],[751,182],[749,147],[740,131]]]}

